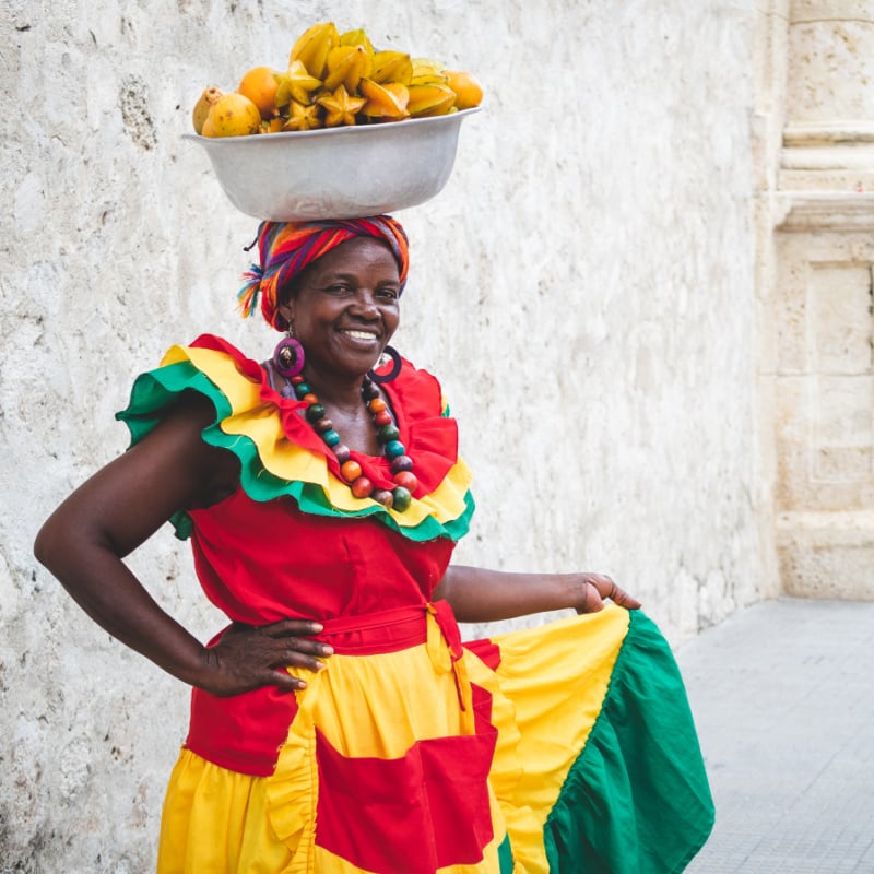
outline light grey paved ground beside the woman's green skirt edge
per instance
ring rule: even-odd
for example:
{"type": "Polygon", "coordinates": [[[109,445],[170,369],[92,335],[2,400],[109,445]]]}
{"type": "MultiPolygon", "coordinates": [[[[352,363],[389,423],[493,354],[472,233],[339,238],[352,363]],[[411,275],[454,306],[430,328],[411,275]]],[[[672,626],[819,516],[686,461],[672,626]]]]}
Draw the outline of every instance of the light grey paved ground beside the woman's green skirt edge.
{"type": "Polygon", "coordinates": [[[717,804],[687,874],[874,874],[874,603],[767,601],[677,661],[717,804]]]}

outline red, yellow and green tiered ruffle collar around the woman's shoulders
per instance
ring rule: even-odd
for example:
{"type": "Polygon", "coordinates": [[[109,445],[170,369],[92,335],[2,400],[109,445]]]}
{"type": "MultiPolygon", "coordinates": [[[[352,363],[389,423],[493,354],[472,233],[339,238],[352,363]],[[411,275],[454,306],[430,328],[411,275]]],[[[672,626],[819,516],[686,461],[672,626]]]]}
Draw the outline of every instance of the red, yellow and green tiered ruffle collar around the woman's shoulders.
{"type": "MultiPolygon", "coordinates": [[[[196,391],[215,409],[204,442],[232,451],[240,462],[240,486],[252,499],[294,499],[303,512],[340,518],[373,517],[415,541],[458,541],[474,510],[471,475],[458,454],[458,428],[439,383],[404,361],[398,378],[383,386],[401,440],[414,461],[418,487],[403,512],[370,498],[356,498],[340,476],[333,452],[304,418],[306,403],[281,398],[261,365],[226,341],[203,334],[190,346],[173,346],[161,366],[135,380],[128,408],[116,417],[130,429],[131,446],[161,421],[184,392],[196,391]]],[[[385,458],[353,452],[378,487],[391,487],[385,458]]],[[[172,520],[177,535],[191,520],[172,520]]]]}

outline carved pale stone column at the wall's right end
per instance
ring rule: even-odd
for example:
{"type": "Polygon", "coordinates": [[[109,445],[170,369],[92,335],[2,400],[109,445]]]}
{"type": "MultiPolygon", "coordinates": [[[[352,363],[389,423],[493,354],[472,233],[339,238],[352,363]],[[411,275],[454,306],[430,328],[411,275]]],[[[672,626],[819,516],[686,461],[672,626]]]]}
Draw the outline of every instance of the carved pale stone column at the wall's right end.
{"type": "Polygon", "coordinates": [[[874,2],[794,0],[786,26],[760,287],[779,571],[874,599],[874,2]]]}

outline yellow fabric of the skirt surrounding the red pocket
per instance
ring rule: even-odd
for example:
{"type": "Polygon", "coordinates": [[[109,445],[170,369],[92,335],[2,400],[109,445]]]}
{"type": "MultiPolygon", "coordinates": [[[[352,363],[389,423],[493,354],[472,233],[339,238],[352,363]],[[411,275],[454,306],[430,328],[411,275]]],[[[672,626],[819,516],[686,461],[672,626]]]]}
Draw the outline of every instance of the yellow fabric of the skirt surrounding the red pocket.
{"type": "MultiPolygon", "coordinates": [[[[495,838],[480,864],[438,874],[498,874],[505,830],[515,874],[547,874],[543,827],[598,718],[628,622],[611,605],[499,635],[496,672],[464,651],[461,675],[493,696],[495,838]]],[[[167,791],[158,874],[367,874],[315,845],[315,727],[344,755],[393,758],[416,740],[469,734],[472,711],[459,711],[449,651],[434,635],[400,652],[336,654],[318,674],[300,672],[309,685],[298,693],[272,777],[234,773],[182,751],[167,791]],[[359,698],[354,712],[344,707],[359,698]]]]}

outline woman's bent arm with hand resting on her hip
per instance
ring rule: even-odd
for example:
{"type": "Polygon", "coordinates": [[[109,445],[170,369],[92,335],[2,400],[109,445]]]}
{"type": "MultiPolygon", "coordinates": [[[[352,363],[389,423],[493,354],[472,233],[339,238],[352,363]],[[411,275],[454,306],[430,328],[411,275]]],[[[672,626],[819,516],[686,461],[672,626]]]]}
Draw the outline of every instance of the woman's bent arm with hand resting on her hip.
{"type": "Polygon", "coordinates": [[[306,684],[282,669],[319,670],[315,656],[330,654],[330,648],[302,637],[321,626],[287,619],[235,631],[208,649],[158,606],[121,560],[177,510],[206,506],[234,487],[236,459],[201,438],[212,415],[200,398],[174,409],[58,507],[34,553],[98,625],[179,680],[216,695],[262,685],[300,688],[306,684]]]}

